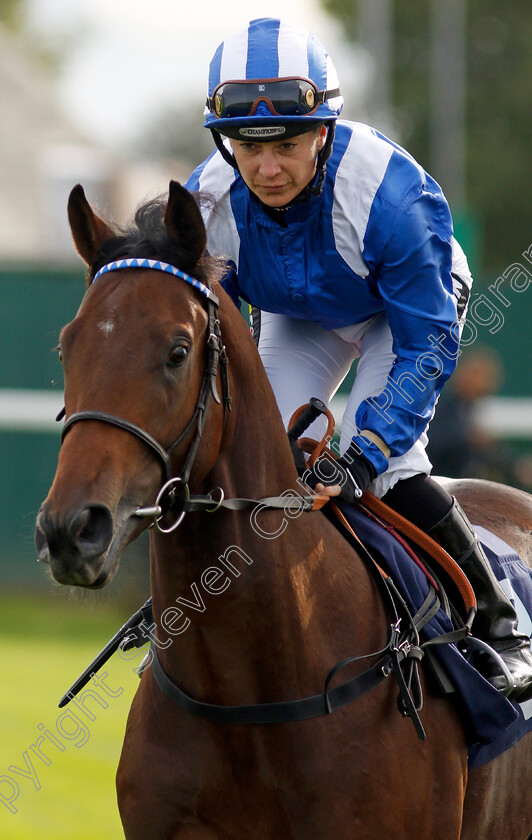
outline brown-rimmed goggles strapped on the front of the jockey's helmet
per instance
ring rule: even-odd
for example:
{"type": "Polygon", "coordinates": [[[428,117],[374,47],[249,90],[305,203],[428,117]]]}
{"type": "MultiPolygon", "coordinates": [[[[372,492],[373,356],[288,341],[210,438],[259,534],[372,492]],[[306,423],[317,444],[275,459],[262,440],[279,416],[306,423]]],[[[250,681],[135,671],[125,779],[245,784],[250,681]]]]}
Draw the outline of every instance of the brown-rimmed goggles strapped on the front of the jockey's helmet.
{"type": "Polygon", "coordinates": [[[314,82],[290,76],[285,79],[253,79],[222,82],[207,97],[207,107],[218,119],[254,116],[264,102],[272,116],[307,116],[327,99],[340,96],[340,89],[318,90],[314,82]]]}

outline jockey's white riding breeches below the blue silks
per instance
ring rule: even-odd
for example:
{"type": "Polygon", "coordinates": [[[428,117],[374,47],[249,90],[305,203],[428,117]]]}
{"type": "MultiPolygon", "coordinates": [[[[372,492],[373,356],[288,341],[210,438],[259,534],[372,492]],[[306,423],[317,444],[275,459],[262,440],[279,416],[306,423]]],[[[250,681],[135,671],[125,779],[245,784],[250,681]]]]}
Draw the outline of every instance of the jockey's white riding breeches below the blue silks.
{"type": "MultiPolygon", "coordinates": [[[[392,334],[384,314],[352,327],[324,330],[310,321],[262,312],[258,346],[286,427],[294,411],[310,397],[329,404],[355,359],[359,359],[342,418],[341,452],[356,433],[354,418],[358,406],[384,389],[395,359],[392,334]]],[[[320,440],[325,429],[325,419],[318,418],[305,435],[320,440]]],[[[417,473],[430,473],[432,465],[425,452],[426,445],[424,432],[408,452],[390,458],[386,472],[370,485],[372,493],[380,498],[397,481],[417,473]]]]}

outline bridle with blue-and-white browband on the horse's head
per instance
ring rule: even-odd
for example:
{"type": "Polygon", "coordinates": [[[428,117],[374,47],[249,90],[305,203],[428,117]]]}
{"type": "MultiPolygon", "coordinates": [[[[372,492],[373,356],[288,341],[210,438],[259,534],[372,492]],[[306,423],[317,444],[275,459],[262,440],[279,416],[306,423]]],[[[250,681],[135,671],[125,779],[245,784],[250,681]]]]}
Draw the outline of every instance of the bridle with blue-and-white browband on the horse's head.
{"type": "MultiPolygon", "coordinates": [[[[166,274],[171,274],[172,276],[178,277],[179,279],[183,280],[185,283],[188,283],[190,286],[196,289],[196,291],[198,291],[204,298],[208,320],[206,341],[207,352],[205,358],[205,366],[203,369],[202,382],[192,417],[190,418],[189,422],[187,423],[186,427],[181,432],[179,437],[171,444],[171,446],[165,449],[157,440],[155,440],[154,437],[152,437],[152,435],[150,435],[148,432],[144,431],[144,429],[142,429],[140,426],[137,426],[135,423],[132,423],[129,420],[125,420],[122,417],[117,417],[114,414],[108,414],[104,411],[77,411],[75,412],[75,414],[70,415],[70,417],[68,417],[65,421],[63,431],[61,434],[61,443],[64,441],[65,436],[68,434],[70,429],[76,423],[79,423],[83,420],[97,420],[102,423],[108,423],[111,426],[116,426],[119,429],[123,429],[124,431],[129,432],[130,434],[134,435],[139,440],[141,440],[144,444],[146,444],[146,446],[151,450],[153,454],[155,454],[155,456],[162,464],[164,484],[157,495],[155,506],[149,508],[138,508],[135,511],[135,515],[153,516],[154,521],[159,527],[159,530],[166,533],[170,530],[174,530],[174,528],[176,528],[181,523],[182,518],[185,515],[185,511],[181,510],[178,519],[171,526],[171,528],[162,528],[162,526],[158,524],[160,519],[162,519],[162,517],[164,516],[164,514],[171,507],[177,504],[178,488],[180,494],[182,495],[183,501],[188,500],[190,498],[190,493],[188,490],[188,481],[190,478],[190,473],[194,466],[194,461],[198,452],[201,437],[205,427],[205,415],[210,397],[212,396],[214,401],[218,404],[223,402],[224,424],[226,420],[226,412],[231,410],[231,397],[229,394],[229,377],[227,371],[228,359],[225,346],[222,342],[220,321],[218,318],[219,299],[209,286],[205,285],[197,278],[191,277],[189,274],[186,274],[184,271],[181,271],[181,269],[176,268],[175,266],[170,265],[169,263],[161,262],[160,260],[125,258],[115,260],[114,262],[104,265],[94,275],[92,282],[94,283],[99,277],[108,274],[111,271],[120,271],[123,269],[132,268],[150,269],[152,271],[162,271],[166,274]],[[222,398],[220,398],[217,388],[218,369],[220,370],[222,381],[222,398]],[[181,471],[179,475],[173,476],[171,467],[172,453],[179,446],[181,441],[183,441],[187,437],[187,435],[189,435],[189,433],[194,427],[196,429],[196,433],[190,445],[188,453],[185,457],[181,471]]],[[[64,409],[58,415],[57,419],[60,420],[63,416],[64,409]]]]}

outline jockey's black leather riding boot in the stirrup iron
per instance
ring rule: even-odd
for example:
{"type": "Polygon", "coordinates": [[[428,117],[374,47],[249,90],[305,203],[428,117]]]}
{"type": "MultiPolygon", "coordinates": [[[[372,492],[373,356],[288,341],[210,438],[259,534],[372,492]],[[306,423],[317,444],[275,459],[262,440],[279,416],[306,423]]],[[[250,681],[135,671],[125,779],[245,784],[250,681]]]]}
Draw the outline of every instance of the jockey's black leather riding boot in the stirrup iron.
{"type": "MultiPolygon", "coordinates": [[[[487,642],[502,658],[514,680],[514,688],[506,693],[522,703],[532,698],[532,651],[530,639],[517,630],[517,615],[505,595],[489,561],[462,508],[453,499],[450,511],[436,525],[428,529],[430,536],[444,548],[460,566],[477,599],[477,614],[473,632],[487,642]]],[[[504,688],[505,679],[484,654],[486,679],[495,688],[504,688]]]]}

